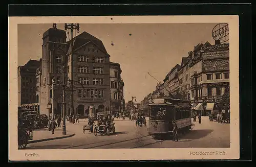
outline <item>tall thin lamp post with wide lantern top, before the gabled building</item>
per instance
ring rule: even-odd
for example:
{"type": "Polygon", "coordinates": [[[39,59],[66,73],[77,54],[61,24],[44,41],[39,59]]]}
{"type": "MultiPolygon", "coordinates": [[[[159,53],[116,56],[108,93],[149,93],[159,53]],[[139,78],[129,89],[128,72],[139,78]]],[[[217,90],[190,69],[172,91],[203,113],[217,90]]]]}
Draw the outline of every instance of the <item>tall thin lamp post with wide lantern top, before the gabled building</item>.
{"type": "MultiPolygon", "coordinates": [[[[73,91],[73,30],[77,30],[79,33],[79,23],[65,23],[65,30],[71,32],[71,112],[70,116],[74,114],[74,91],[73,91]]],[[[71,119],[70,119],[71,120],[71,119]]]]}

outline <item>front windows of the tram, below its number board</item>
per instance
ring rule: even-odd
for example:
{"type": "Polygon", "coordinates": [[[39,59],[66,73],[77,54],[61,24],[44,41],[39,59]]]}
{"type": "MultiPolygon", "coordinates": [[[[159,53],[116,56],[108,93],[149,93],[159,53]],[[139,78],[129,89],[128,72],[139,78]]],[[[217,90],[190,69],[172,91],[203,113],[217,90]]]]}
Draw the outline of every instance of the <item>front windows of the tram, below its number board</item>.
{"type": "Polygon", "coordinates": [[[166,107],[164,106],[151,106],[150,120],[166,120],[166,107]]]}

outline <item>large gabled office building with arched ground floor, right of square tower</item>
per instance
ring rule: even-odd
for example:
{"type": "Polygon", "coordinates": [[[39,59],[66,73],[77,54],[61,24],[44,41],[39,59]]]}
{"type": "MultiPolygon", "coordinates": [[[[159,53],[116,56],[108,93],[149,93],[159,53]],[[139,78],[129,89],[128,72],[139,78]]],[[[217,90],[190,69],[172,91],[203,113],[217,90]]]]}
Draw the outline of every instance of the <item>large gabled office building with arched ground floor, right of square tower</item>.
{"type": "MultiPolygon", "coordinates": [[[[102,41],[83,32],[73,39],[73,66],[70,41],[67,56],[68,78],[71,79],[71,68],[73,68],[73,80],[78,82],[73,82],[75,114],[96,115],[100,111],[109,111],[110,55],[106,52],[102,41]]],[[[70,111],[71,108],[68,114],[70,111]]]]}

